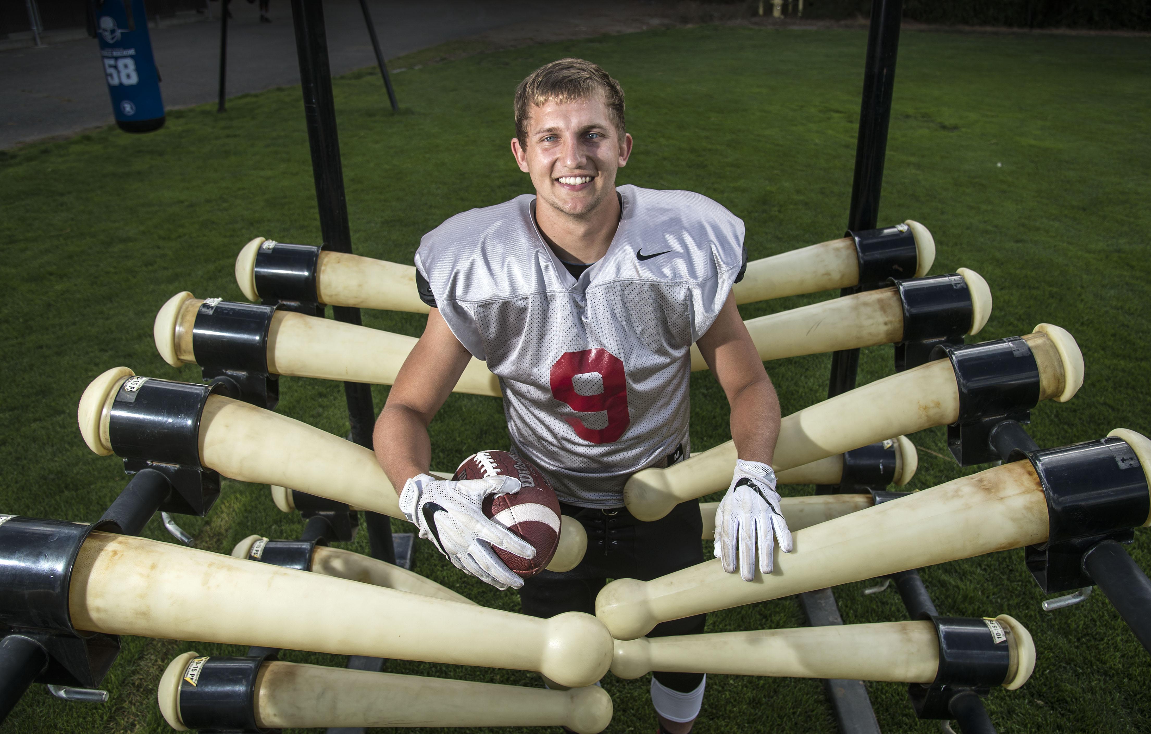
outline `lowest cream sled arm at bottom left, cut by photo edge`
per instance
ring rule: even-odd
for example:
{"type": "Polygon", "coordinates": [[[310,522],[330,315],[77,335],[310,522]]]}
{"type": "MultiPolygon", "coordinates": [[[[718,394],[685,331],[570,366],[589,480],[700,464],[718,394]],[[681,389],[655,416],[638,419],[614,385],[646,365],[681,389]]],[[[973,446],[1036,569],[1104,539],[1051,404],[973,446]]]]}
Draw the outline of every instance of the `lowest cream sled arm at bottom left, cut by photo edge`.
{"type": "MultiPolygon", "coordinates": [[[[174,659],[157,691],[163,718],[181,732],[181,679],[193,659],[196,652],[174,659]]],[[[612,713],[611,696],[597,686],[546,690],[281,662],[260,667],[253,698],[264,728],[566,726],[599,734],[612,713]]]]}

